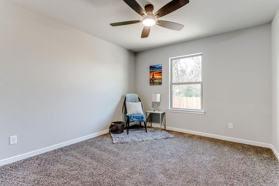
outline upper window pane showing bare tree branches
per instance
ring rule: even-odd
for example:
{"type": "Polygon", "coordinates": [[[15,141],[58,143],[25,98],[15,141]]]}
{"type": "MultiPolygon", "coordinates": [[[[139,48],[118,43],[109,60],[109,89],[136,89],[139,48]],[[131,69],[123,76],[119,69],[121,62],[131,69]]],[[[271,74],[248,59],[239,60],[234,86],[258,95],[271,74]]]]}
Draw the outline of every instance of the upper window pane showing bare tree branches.
{"type": "Polygon", "coordinates": [[[201,82],[201,55],[172,60],[172,82],[201,82]]]}

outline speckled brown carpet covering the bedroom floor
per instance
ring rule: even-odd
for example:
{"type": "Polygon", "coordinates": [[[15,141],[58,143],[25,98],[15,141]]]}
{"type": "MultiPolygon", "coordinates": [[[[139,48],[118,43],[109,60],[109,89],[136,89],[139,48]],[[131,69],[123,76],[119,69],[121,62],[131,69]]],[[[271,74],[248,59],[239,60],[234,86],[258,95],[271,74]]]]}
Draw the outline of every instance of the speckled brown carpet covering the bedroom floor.
{"type": "Polygon", "coordinates": [[[0,185],[279,185],[271,149],[168,131],[113,144],[110,134],[0,167],[0,185]]]}

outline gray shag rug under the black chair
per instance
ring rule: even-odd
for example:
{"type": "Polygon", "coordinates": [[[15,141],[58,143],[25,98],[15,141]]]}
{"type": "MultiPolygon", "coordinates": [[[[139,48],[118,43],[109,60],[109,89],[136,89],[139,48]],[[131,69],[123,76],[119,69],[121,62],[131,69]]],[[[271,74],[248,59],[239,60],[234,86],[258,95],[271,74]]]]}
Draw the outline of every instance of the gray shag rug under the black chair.
{"type": "Polygon", "coordinates": [[[153,139],[166,139],[173,138],[174,136],[167,131],[162,131],[160,128],[147,128],[147,133],[144,128],[140,129],[129,129],[129,135],[127,135],[127,130],[120,134],[111,134],[113,138],[113,143],[131,143],[139,141],[147,141],[153,139]]]}

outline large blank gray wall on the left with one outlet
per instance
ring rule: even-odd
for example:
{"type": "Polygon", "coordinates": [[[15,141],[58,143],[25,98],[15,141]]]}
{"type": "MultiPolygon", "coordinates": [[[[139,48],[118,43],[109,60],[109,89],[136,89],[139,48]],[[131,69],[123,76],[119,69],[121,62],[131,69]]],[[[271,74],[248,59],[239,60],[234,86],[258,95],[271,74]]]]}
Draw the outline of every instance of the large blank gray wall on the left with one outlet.
{"type": "Polygon", "coordinates": [[[122,120],[134,53],[2,0],[0,25],[0,159],[122,120]]]}

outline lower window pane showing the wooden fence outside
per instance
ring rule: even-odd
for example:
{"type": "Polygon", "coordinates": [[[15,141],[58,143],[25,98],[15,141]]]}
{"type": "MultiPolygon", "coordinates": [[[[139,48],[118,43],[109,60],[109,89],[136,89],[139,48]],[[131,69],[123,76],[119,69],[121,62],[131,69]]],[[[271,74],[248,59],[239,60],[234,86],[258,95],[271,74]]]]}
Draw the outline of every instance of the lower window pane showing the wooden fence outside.
{"type": "Polygon", "coordinates": [[[201,84],[173,85],[172,108],[201,110],[201,84]]]}

